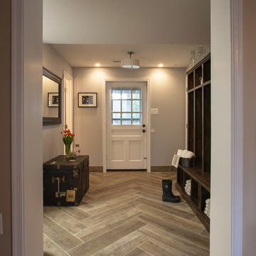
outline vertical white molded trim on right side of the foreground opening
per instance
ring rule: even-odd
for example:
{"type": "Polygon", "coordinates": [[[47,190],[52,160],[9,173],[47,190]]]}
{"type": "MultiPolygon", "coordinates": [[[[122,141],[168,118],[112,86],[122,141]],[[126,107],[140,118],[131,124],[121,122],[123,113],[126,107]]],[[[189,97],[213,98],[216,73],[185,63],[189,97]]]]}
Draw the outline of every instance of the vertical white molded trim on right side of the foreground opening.
{"type": "Polygon", "coordinates": [[[242,0],[231,1],[232,192],[231,255],[242,255],[242,0]]]}

